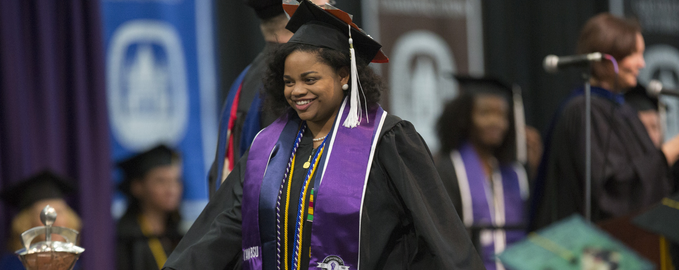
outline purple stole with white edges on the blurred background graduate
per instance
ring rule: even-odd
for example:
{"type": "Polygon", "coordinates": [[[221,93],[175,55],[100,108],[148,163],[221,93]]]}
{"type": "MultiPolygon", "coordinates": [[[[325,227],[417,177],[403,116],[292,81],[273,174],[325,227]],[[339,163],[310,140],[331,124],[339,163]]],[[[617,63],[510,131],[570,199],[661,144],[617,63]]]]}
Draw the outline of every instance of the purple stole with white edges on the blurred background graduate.
{"type": "MultiPolygon", "coordinates": [[[[466,227],[517,227],[525,225],[524,201],[528,198],[528,179],[520,165],[500,165],[490,180],[485,177],[481,159],[469,142],[450,158],[460,186],[462,222],[466,227]]],[[[496,259],[504,248],[524,238],[523,230],[483,229],[479,233],[488,270],[503,270],[496,259]]]]}

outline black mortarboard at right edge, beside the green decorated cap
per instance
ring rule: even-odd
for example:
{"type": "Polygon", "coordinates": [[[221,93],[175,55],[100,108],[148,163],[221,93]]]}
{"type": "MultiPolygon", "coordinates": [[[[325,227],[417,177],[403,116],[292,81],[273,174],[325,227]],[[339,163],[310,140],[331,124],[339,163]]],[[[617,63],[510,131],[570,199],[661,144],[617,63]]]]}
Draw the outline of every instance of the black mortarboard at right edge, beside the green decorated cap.
{"type": "Polygon", "coordinates": [[[660,204],[636,216],[632,223],[679,243],[679,193],[663,198],[660,204]]]}

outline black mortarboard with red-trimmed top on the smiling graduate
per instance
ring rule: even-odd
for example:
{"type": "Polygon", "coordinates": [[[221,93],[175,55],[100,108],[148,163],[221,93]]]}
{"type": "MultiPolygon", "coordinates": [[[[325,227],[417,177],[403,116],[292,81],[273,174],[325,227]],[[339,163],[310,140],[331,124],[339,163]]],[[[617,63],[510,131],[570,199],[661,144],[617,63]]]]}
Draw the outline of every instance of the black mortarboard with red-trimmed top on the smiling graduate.
{"type": "Polygon", "coordinates": [[[309,0],[301,1],[299,5],[283,7],[288,14],[292,13],[285,28],[295,33],[288,42],[328,47],[348,54],[351,26],[351,37],[357,58],[366,62],[389,61],[380,50],[382,45],[351,22],[351,16],[342,10],[323,9],[309,0]]]}

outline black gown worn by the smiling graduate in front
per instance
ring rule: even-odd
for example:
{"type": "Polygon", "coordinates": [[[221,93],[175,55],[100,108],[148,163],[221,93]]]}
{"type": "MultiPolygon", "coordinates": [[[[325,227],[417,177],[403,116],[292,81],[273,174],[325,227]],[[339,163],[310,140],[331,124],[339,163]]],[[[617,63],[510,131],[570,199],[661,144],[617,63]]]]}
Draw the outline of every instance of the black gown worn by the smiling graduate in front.
{"type": "MultiPolygon", "coordinates": [[[[246,158],[247,153],[164,269],[241,269],[246,158]]],[[[411,123],[392,115],[386,117],[375,149],[361,223],[362,269],[484,269],[424,140],[411,123]]],[[[308,250],[308,242],[303,250],[308,250]]]]}

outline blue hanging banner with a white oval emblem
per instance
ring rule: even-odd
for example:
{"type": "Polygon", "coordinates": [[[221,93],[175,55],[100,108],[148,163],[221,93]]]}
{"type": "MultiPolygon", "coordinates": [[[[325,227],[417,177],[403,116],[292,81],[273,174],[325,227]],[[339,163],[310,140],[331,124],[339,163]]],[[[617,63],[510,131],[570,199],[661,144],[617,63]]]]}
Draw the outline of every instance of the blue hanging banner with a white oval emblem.
{"type": "MultiPolygon", "coordinates": [[[[217,142],[213,1],[103,0],[102,14],[113,160],[159,143],[181,151],[190,225],[208,199],[217,142]]],[[[119,194],[113,214],[124,210],[119,194]]]]}

